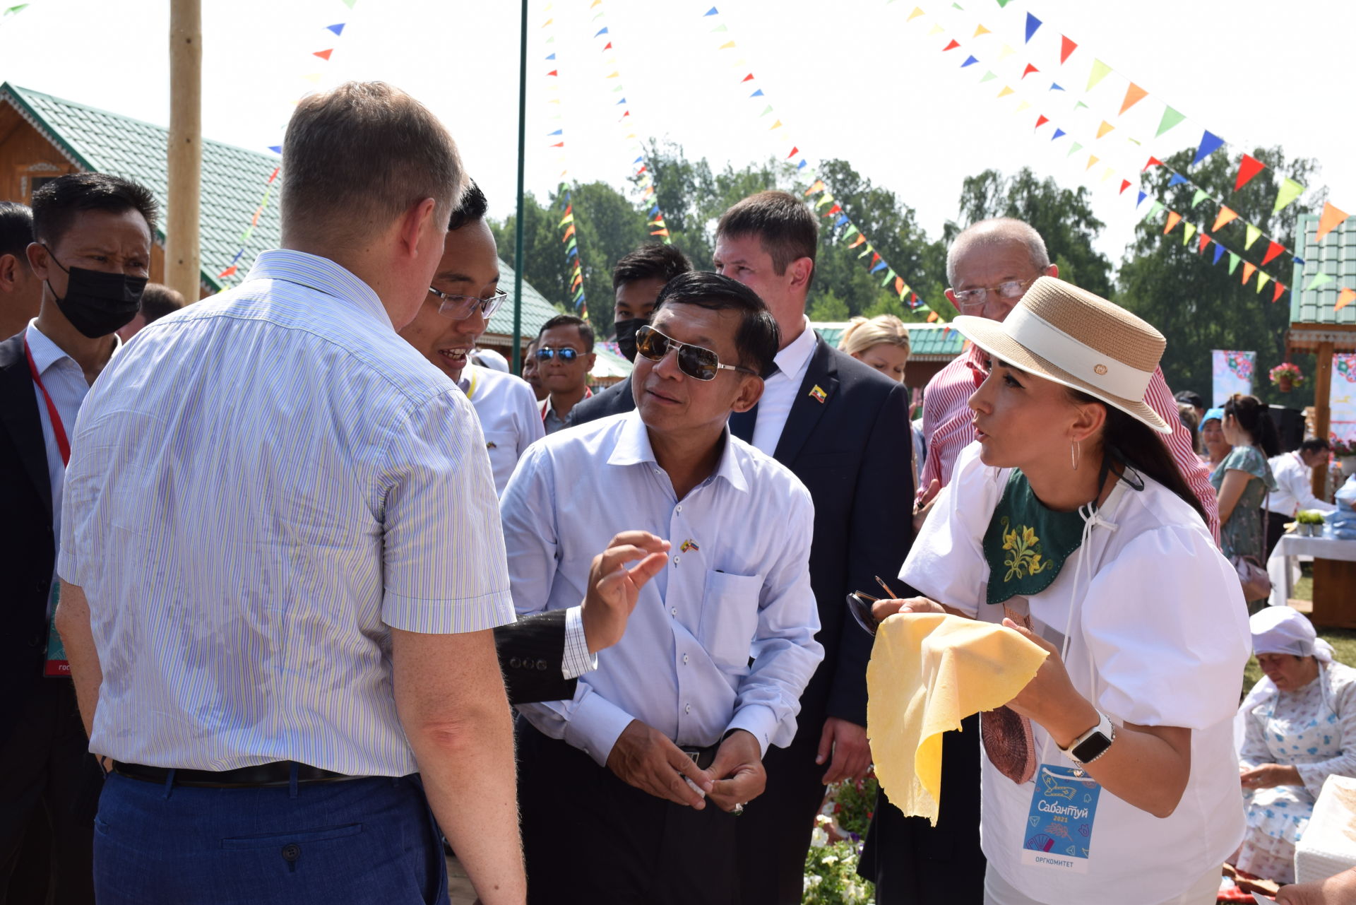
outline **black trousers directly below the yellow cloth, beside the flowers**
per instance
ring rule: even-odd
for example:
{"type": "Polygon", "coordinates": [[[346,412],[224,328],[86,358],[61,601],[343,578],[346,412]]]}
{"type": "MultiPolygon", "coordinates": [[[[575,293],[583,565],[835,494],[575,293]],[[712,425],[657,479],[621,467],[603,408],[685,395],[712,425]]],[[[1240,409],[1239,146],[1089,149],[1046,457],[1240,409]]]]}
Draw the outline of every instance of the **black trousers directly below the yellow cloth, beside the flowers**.
{"type": "Polygon", "coordinates": [[[979,848],[979,714],[941,738],[937,825],[904,817],[884,790],[866,832],[857,872],[876,883],[879,905],[983,905],[984,853],[979,848]]]}

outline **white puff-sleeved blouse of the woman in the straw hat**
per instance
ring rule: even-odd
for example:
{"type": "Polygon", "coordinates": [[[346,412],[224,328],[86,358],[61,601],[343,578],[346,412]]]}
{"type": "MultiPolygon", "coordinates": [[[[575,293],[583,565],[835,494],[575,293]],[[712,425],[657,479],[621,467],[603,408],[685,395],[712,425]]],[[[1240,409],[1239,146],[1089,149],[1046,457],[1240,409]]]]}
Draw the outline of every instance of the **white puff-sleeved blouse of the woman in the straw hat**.
{"type": "MultiPolygon", "coordinates": [[[[976,442],[957,457],[900,578],[932,600],[1001,623],[1005,605],[984,602],[983,537],[1009,469],[984,465],[979,452],[976,442]]],[[[1222,864],[1243,834],[1231,718],[1252,650],[1248,609],[1200,516],[1158,482],[1143,483],[1135,491],[1117,482],[1055,581],[1006,606],[1025,602],[1032,630],[1056,649],[1067,627],[1074,687],[1117,726],[1191,729],[1191,777],[1168,818],[1101,790],[1088,858],[1037,866],[1022,855],[1035,783],[1018,786],[984,757],[984,855],[1013,887],[1041,902],[1109,901],[1116,889],[1134,889],[1135,901],[1146,902],[1178,896],[1222,864]]],[[[1041,764],[1073,767],[1044,729],[1032,730],[1041,764]]]]}

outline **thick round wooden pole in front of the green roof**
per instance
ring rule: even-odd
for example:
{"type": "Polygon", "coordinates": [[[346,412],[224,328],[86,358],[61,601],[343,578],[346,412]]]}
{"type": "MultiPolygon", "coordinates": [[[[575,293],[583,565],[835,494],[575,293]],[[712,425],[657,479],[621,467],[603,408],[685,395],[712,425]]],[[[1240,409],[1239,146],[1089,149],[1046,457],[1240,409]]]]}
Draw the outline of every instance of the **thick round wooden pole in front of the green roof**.
{"type": "Polygon", "coordinates": [[[202,5],[170,0],[170,147],[165,210],[165,285],[198,301],[202,265],[202,5]]]}

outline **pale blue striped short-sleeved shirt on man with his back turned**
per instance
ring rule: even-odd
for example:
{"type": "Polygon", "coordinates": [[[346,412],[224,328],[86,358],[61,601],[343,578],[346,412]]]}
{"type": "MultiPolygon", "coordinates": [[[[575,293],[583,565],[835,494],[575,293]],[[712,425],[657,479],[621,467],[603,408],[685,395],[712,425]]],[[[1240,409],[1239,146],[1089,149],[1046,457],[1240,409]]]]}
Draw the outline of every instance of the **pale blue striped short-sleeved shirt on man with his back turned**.
{"type": "Polygon", "coordinates": [[[513,621],[471,403],[366,284],[296,251],[99,377],[58,573],[103,668],[91,749],[156,767],[411,773],[391,627],[513,621]]]}

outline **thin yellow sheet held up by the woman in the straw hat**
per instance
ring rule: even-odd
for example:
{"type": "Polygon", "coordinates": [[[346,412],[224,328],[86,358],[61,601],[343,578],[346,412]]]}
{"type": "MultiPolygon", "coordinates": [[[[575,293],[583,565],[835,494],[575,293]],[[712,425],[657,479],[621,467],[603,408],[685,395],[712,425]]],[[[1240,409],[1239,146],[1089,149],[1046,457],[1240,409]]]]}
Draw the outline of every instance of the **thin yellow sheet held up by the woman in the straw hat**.
{"type": "Polygon", "coordinates": [[[1043,649],[991,623],[949,613],[881,623],[866,666],[866,735],[891,803],[936,826],[941,734],[1010,701],[1044,661],[1043,649]]]}

